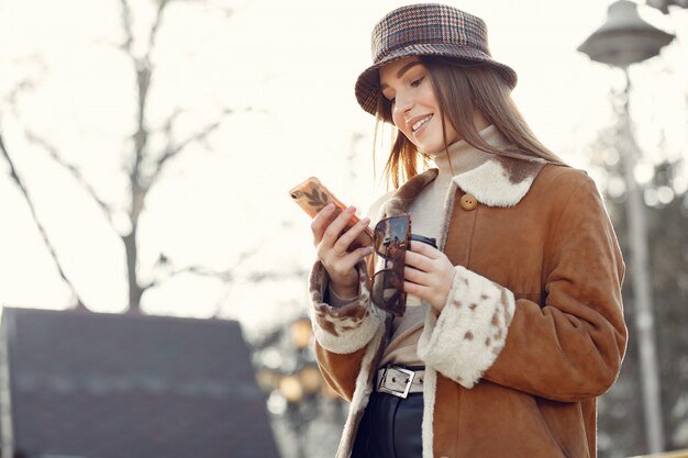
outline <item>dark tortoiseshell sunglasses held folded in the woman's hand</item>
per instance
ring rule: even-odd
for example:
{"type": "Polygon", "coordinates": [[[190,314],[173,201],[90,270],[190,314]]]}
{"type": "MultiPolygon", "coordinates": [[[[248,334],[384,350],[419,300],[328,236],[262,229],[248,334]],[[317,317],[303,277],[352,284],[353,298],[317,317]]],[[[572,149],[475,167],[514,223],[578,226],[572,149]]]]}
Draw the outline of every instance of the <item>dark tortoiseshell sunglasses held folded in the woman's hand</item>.
{"type": "Polygon", "coordinates": [[[403,291],[406,254],[411,243],[411,215],[401,214],[380,220],[373,231],[373,247],[385,259],[385,268],[373,276],[371,300],[379,309],[396,316],[406,311],[403,291]],[[390,262],[388,262],[390,261],[390,262]],[[390,267],[388,267],[391,264],[390,267]]]}

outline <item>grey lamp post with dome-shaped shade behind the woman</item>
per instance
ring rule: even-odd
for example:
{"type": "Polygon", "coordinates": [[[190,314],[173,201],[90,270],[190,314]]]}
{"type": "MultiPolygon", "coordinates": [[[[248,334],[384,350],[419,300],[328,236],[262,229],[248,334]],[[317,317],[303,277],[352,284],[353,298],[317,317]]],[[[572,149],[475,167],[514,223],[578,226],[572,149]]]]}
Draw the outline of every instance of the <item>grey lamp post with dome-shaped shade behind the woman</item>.
{"type": "Polygon", "coordinates": [[[592,60],[621,68],[626,77],[621,157],[626,185],[626,221],[632,253],[631,268],[633,297],[636,306],[635,327],[645,412],[645,434],[650,453],[653,454],[664,450],[664,427],[654,337],[652,290],[647,268],[645,208],[641,189],[633,175],[640,149],[633,137],[630,116],[629,66],[658,55],[659,51],[673,40],[674,35],[643,21],[637,13],[636,3],[618,0],[609,7],[607,22],[578,47],[579,52],[585,53],[592,60]]]}

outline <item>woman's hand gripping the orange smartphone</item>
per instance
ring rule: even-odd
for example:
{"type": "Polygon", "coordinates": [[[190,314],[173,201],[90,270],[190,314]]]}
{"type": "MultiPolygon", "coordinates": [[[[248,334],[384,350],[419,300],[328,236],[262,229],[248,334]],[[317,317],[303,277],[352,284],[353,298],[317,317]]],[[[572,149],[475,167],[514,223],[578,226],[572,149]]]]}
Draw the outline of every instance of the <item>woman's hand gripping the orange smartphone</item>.
{"type": "Polygon", "coordinates": [[[356,248],[352,253],[346,252],[370,224],[370,219],[364,217],[351,230],[342,233],[355,211],[354,206],[349,206],[334,217],[334,204],[330,203],[315,215],[311,223],[318,258],[330,275],[332,292],[341,298],[353,298],[358,293],[358,272],[355,266],[373,253],[371,247],[356,248]]]}

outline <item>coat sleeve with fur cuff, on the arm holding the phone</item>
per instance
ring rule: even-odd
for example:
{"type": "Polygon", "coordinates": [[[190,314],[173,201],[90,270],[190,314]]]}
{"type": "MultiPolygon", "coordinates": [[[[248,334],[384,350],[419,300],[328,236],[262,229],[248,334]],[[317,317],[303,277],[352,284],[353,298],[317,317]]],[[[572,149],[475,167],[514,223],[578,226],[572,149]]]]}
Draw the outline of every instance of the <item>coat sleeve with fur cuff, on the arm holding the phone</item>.
{"type": "Polygon", "coordinates": [[[328,384],[351,401],[366,347],[385,327],[385,317],[370,303],[366,262],[359,262],[358,297],[342,306],[324,302],[328,271],[320,261],[311,269],[309,292],[315,357],[328,384]]]}

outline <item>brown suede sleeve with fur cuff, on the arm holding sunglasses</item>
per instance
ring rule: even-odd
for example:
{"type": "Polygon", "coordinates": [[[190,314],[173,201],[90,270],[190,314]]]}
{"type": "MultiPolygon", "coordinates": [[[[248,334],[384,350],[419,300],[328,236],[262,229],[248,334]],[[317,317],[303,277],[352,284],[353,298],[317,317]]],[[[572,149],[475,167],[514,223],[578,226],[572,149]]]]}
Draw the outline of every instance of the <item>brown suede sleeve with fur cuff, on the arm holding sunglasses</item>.
{"type": "Polygon", "coordinates": [[[457,266],[447,303],[419,342],[426,365],[466,388],[480,378],[556,401],[599,395],[625,351],[624,265],[611,222],[587,176],[546,241],[544,306],[457,266]]]}

